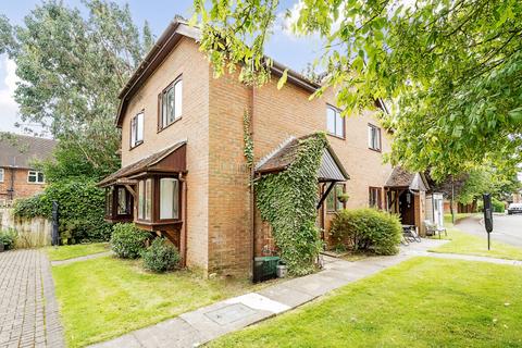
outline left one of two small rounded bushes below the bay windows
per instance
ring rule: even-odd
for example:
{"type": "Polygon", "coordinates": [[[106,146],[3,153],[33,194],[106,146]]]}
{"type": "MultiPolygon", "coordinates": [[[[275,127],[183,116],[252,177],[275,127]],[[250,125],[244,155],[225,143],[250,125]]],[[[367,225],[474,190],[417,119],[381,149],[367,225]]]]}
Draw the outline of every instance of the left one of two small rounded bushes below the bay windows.
{"type": "Polygon", "coordinates": [[[150,234],[134,224],[115,224],[111,237],[111,248],[121,259],[137,259],[145,250],[150,234]]]}

